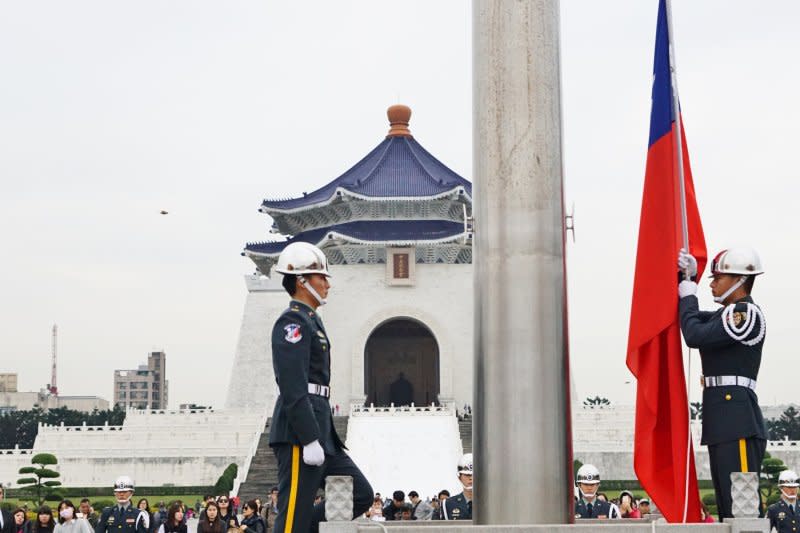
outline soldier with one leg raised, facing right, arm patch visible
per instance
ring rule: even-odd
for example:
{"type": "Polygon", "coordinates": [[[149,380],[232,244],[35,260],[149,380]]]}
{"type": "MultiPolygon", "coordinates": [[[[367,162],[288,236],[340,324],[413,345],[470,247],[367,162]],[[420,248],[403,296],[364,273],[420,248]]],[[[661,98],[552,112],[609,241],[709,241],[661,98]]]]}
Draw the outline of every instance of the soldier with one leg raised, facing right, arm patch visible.
{"type": "Polygon", "coordinates": [[[325,504],[314,505],[325,477],[353,478],[353,517],[372,503],[372,487],[344,451],[333,427],[330,341],[317,309],[328,295],[330,273],[316,246],[295,242],[278,258],[283,287],[292,297],[272,329],[272,366],[279,396],[269,444],[278,459],[275,533],[316,532],[325,504]]]}

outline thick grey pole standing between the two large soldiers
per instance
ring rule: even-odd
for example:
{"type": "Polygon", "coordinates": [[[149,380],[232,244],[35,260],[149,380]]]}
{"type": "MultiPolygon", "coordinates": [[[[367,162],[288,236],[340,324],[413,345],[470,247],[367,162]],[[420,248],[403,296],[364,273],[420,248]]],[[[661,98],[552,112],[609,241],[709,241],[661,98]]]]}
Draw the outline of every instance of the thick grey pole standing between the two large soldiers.
{"type": "Polygon", "coordinates": [[[478,525],[572,516],[558,11],[473,2],[478,525]]]}

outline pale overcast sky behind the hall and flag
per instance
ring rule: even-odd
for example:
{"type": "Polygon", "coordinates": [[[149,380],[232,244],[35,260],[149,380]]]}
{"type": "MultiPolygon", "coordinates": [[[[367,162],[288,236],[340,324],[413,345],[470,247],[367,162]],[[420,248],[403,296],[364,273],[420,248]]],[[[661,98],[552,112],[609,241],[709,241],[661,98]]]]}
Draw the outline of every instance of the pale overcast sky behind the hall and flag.
{"type": "MultiPolygon", "coordinates": [[[[581,398],[634,399],[625,349],[656,8],[561,4],[581,398]]],[[[800,4],[673,11],[709,252],[760,251],[759,395],[796,401],[800,4]]],[[[221,406],[253,271],[239,252],[269,237],[263,197],[341,174],[383,139],[394,103],[472,179],[471,16],[466,0],[0,4],[0,372],[18,372],[20,390],[47,384],[58,323],[62,393],[111,399],[114,369],[164,349],[171,406],[221,406]]],[[[700,292],[712,308],[707,281],[700,292]]]]}

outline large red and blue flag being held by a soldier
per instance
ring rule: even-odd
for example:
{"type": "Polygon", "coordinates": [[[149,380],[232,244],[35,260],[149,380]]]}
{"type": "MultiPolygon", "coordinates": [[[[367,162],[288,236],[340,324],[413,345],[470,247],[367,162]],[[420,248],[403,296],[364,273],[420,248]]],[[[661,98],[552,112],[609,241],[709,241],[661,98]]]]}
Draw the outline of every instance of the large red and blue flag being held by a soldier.
{"type": "MultiPolygon", "coordinates": [[[[633,465],[642,488],[669,522],[699,522],[700,495],[691,452],[687,467],[691,441],[677,287],[677,258],[683,241],[675,126],[675,113],[680,110],[673,109],[668,32],[665,0],[660,0],[650,144],[628,334],[627,364],[638,382],[633,465]]],[[[683,129],[681,134],[690,252],[697,258],[699,276],[706,264],[706,245],[683,129]]]]}

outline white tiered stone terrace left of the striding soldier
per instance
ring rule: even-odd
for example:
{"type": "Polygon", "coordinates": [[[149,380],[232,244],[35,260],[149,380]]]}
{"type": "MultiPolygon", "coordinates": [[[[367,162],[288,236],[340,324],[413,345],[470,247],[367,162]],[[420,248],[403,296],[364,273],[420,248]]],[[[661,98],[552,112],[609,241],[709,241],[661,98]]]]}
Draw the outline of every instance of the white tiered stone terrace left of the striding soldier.
{"type": "Polygon", "coordinates": [[[0,482],[13,486],[32,454],[53,453],[61,482],[110,486],[213,485],[230,463],[249,464],[264,427],[244,411],[128,411],[122,426],[41,426],[33,450],[0,451],[0,482]]]}

